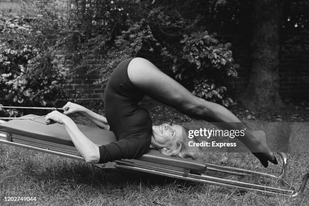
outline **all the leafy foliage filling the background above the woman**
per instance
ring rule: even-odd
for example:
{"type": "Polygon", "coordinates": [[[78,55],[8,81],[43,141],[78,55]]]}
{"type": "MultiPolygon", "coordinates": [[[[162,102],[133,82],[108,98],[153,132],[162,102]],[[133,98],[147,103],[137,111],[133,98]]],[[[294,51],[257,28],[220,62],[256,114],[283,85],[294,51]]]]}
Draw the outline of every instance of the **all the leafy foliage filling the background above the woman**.
{"type": "MultiPolygon", "coordinates": [[[[10,89],[7,87],[13,88],[16,83],[4,84],[4,81],[12,82],[16,78],[24,81],[28,78],[29,85],[33,81],[28,80],[32,78],[38,81],[33,84],[43,83],[43,86],[46,82],[43,81],[46,76],[43,74],[52,75],[47,76],[52,79],[47,82],[48,86],[52,86],[55,81],[58,83],[54,87],[60,86],[64,83],[68,70],[58,71],[55,55],[57,50],[66,50],[70,54],[66,62],[73,65],[71,73],[77,70],[100,71],[99,82],[106,82],[119,61],[128,57],[144,57],[160,60],[161,65],[166,67],[160,69],[169,74],[173,71],[176,79],[195,95],[224,106],[231,103],[226,97],[225,80],[236,76],[237,65],[233,63],[230,44],[207,31],[219,30],[231,35],[250,33],[250,1],[28,2],[33,4],[31,18],[2,18],[0,23],[4,37],[1,39],[0,70],[4,74],[1,77],[2,86],[5,85],[8,92],[10,89]],[[94,66],[89,67],[89,64],[94,66]]],[[[286,2],[283,30],[291,32],[297,29],[305,36],[308,26],[305,17],[308,15],[309,4],[307,1],[286,2]]],[[[288,39],[283,50],[306,51],[307,39],[302,36],[288,39]]],[[[23,86],[25,85],[20,84],[20,88],[23,86]]],[[[42,90],[35,88],[37,91],[42,90]]],[[[17,96],[14,104],[30,104],[27,103],[28,97],[23,97],[21,91],[23,90],[20,89],[18,95],[10,95],[12,101],[17,96]]],[[[47,98],[45,96],[47,94],[44,95],[44,100],[47,98]]],[[[36,97],[32,99],[37,100],[35,104],[43,103],[36,97]]],[[[50,104],[54,104],[54,101],[55,99],[50,100],[50,104]]],[[[46,102],[49,104],[49,100],[46,102]]]]}

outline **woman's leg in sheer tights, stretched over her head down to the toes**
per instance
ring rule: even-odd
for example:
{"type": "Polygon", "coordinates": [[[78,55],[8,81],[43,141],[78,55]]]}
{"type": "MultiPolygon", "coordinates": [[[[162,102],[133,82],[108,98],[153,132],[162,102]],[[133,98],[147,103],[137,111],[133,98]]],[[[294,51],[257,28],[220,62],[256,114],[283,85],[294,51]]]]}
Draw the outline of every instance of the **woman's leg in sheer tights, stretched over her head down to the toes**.
{"type": "MultiPolygon", "coordinates": [[[[226,128],[222,129],[237,129],[235,124],[229,124],[234,122],[239,122],[239,124],[242,124],[242,127],[246,127],[229,110],[214,102],[194,96],[186,88],[145,59],[133,59],[128,66],[128,75],[134,86],[183,114],[209,122],[227,123],[226,128]]],[[[261,151],[253,152],[253,154],[265,167],[268,166],[267,161],[276,164],[277,160],[267,145],[265,133],[246,128],[246,136],[239,140],[251,151],[261,151]]]]}

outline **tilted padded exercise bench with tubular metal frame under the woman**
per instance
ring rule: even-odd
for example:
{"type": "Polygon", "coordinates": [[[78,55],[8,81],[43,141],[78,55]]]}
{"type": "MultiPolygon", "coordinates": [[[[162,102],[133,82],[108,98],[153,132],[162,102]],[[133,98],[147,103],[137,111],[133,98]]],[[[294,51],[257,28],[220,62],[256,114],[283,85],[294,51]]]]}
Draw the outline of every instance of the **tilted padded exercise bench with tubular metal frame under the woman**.
{"type": "MultiPolygon", "coordinates": [[[[24,117],[35,117],[34,115],[27,115],[24,117]]],[[[11,144],[15,146],[26,147],[29,149],[35,149],[43,152],[53,153],[55,155],[83,160],[79,152],[74,147],[69,135],[67,134],[63,125],[53,124],[46,125],[44,118],[36,118],[32,120],[11,120],[9,122],[0,123],[0,143],[11,144]],[[39,122],[35,122],[39,121],[39,122]]],[[[116,141],[114,133],[107,130],[101,130],[98,128],[87,127],[84,125],[78,125],[79,129],[96,145],[108,144],[112,141],[116,141]]],[[[287,182],[281,178],[284,174],[286,167],[286,155],[281,153],[282,157],[282,171],[277,177],[275,175],[255,172],[240,168],[221,166],[211,163],[203,163],[202,160],[189,160],[180,159],[165,156],[158,150],[150,149],[145,155],[131,160],[115,160],[111,163],[111,167],[120,170],[133,170],[139,172],[145,172],[150,174],[162,175],[166,177],[178,178],[183,180],[195,181],[200,183],[210,183],[223,187],[232,187],[237,189],[255,190],[269,194],[283,194],[288,196],[296,196],[298,193],[304,191],[307,180],[309,179],[309,172],[307,172],[303,178],[299,190],[294,189],[287,182]],[[207,167],[207,168],[206,168],[207,167]],[[289,189],[282,189],[266,186],[262,184],[265,180],[260,181],[262,183],[248,183],[237,180],[231,180],[229,178],[221,178],[210,176],[203,173],[205,170],[214,172],[230,173],[234,175],[255,175],[259,178],[274,178],[276,182],[280,180],[284,185],[289,186],[289,189]]],[[[106,166],[99,166],[102,164],[95,164],[100,168],[109,168],[106,166]]],[[[103,164],[107,165],[107,164],[103,164]]]]}

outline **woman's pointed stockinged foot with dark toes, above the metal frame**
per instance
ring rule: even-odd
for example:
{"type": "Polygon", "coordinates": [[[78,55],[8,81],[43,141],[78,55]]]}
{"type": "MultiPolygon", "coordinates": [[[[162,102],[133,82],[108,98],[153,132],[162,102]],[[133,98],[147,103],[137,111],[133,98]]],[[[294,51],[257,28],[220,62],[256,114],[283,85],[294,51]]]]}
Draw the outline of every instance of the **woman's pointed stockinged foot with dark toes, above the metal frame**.
{"type": "Polygon", "coordinates": [[[262,130],[255,130],[251,132],[250,137],[243,141],[243,143],[252,151],[252,154],[260,160],[264,167],[268,166],[268,161],[277,165],[278,161],[274,153],[267,144],[266,134],[262,130]]]}

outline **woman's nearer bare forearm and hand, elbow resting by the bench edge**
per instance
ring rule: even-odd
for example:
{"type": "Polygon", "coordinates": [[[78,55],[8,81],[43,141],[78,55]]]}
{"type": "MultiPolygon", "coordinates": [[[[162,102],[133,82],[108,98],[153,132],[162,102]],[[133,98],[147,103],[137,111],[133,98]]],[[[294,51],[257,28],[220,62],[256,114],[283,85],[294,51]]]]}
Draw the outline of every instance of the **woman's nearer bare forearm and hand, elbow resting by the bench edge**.
{"type": "Polygon", "coordinates": [[[46,115],[46,121],[53,120],[59,124],[63,124],[71,137],[76,149],[87,163],[98,163],[100,159],[99,148],[91,140],[89,140],[76,126],[71,118],[53,111],[46,115]]]}

